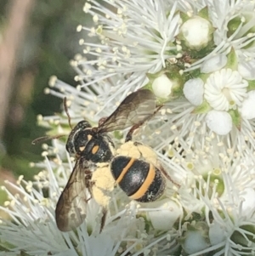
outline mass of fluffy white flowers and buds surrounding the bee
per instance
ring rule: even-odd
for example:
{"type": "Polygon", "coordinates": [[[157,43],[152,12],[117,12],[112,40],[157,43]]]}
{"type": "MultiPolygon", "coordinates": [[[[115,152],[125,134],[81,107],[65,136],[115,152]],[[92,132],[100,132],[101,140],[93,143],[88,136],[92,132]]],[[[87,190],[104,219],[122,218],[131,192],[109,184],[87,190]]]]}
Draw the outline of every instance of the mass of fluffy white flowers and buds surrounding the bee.
{"type": "MultiPolygon", "coordinates": [[[[71,122],[95,126],[128,94],[150,89],[161,110],[135,139],[167,171],[156,202],[130,201],[116,187],[105,228],[88,201],[84,223],[68,233],[54,209],[74,165],[65,142],[43,145],[34,182],[10,185],[0,255],[255,254],[255,3],[248,0],[91,0],[93,26],[78,26],[84,56],[72,61],[77,88],[52,77],[46,93],[68,99],[71,122]],[[13,192],[9,192],[13,191],[13,192]]],[[[62,116],[39,117],[68,134],[62,116]]],[[[116,145],[126,131],[113,132],[116,145]]]]}

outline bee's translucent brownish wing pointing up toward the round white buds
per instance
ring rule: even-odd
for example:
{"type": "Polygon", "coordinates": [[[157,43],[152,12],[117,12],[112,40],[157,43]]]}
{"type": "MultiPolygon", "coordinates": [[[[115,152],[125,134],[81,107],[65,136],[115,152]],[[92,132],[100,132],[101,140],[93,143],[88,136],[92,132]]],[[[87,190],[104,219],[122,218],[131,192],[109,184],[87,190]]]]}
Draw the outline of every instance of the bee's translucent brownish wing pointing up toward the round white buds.
{"type": "Polygon", "coordinates": [[[129,94],[110,117],[99,125],[98,132],[112,132],[144,122],[156,110],[155,95],[149,89],[129,94]]]}

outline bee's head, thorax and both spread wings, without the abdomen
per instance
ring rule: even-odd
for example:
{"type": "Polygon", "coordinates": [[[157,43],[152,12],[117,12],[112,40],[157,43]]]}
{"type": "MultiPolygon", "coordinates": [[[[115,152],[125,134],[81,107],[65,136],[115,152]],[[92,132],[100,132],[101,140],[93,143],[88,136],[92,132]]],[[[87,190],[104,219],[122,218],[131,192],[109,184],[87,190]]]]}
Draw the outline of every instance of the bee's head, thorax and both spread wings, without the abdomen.
{"type": "MultiPolygon", "coordinates": [[[[69,117],[66,100],[64,105],[69,117]]],[[[59,230],[69,231],[77,228],[86,218],[88,201],[94,197],[94,187],[97,183],[93,176],[99,172],[98,169],[103,170],[102,175],[106,174],[107,169],[109,170],[109,162],[115,156],[115,145],[107,133],[128,127],[139,127],[152,117],[155,111],[155,95],[148,89],[140,89],[129,94],[110,117],[100,119],[98,127],[93,128],[84,120],[78,122],[71,130],[66,142],[66,150],[76,156],[76,163],[56,205],[55,219],[59,230]]],[[[110,186],[114,184],[113,177],[107,179],[110,186]]],[[[103,217],[100,230],[105,225],[107,213],[106,202],[101,205],[103,217]]]]}

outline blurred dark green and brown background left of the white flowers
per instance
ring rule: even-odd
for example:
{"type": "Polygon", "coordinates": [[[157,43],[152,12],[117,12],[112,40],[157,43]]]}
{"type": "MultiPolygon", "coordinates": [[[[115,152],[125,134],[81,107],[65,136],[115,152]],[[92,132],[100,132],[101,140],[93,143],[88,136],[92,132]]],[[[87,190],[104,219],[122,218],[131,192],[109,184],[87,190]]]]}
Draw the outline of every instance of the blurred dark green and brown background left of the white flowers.
{"type": "Polygon", "coordinates": [[[45,134],[37,115],[53,115],[62,104],[43,90],[52,75],[77,85],[69,63],[82,53],[77,26],[88,20],[84,3],[0,0],[0,185],[38,172],[30,168],[30,162],[42,160],[41,145],[31,145],[45,134]]]}

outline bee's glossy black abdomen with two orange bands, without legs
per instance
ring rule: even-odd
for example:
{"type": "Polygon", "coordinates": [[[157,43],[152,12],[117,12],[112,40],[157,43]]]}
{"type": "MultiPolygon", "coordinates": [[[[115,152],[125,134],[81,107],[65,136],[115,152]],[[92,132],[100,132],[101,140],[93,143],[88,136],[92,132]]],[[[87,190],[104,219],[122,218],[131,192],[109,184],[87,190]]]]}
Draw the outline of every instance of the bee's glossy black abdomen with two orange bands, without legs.
{"type": "Polygon", "coordinates": [[[156,201],[165,189],[161,171],[150,162],[133,157],[114,157],[111,174],[122,191],[138,202],[156,201]]]}

